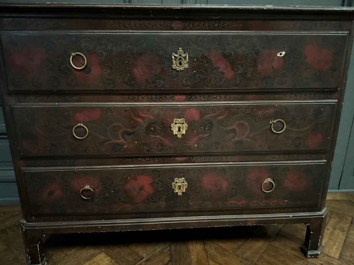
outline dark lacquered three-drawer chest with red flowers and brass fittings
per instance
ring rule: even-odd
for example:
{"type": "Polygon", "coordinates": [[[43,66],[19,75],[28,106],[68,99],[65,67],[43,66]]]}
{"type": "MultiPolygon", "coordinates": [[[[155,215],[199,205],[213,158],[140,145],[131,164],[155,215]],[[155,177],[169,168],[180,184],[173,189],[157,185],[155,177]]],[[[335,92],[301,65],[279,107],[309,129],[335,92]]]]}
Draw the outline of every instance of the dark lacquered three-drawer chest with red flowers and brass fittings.
{"type": "Polygon", "coordinates": [[[27,264],[45,234],[285,223],[319,256],[351,9],[0,7],[27,264]]]}

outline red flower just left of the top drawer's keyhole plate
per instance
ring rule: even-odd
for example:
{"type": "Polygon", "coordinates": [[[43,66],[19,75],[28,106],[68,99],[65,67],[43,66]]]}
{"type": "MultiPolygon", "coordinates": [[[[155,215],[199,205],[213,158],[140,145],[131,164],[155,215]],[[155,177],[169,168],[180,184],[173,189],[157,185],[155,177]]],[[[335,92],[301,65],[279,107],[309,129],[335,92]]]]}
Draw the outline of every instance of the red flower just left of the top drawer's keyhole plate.
{"type": "Polygon", "coordinates": [[[136,66],[133,68],[133,76],[138,82],[145,82],[152,75],[158,75],[161,72],[160,58],[144,54],[136,61],[136,66]]]}

